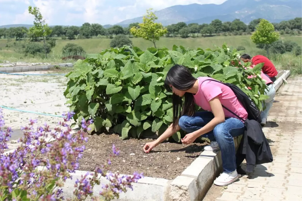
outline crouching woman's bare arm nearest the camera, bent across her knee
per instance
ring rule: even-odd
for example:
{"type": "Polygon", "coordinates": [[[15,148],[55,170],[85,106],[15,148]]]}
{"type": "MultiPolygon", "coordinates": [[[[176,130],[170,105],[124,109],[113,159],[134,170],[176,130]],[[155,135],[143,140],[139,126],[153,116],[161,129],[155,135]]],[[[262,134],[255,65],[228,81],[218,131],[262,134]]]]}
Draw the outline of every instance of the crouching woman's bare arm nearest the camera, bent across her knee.
{"type": "Polygon", "coordinates": [[[214,97],[209,101],[210,107],[212,109],[212,112],[214,114],[214,118],[207,123],[205,126],[203,126],[201,129],[198,129],[197,131],[194,131],[192,133],[189,133],[189,137],[187,135],[182,139],[182,143],[184,144],[190,144],[194,142],[196,138],[199,136],[202,136],[206,134],[207,132],[210,132],[220,123],[223,123],[225,121],[225,116],[223,112],[223,107],[220,103],[220,100],[218,96],[214,97]],[[192,141],[193,140],[193,141],[192,141]]]}

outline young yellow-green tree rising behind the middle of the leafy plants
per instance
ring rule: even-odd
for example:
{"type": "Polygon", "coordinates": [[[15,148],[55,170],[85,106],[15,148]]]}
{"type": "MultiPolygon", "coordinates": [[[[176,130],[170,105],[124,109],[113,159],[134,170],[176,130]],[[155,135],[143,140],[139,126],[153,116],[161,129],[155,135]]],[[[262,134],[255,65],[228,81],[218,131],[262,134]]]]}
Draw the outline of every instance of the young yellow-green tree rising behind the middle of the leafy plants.
{"type": "Polygon", "coordinates": [[[143,16],[143,23],[139,24],[139,28],[131,27],[130,32],[133,36],[141,37],[145,40],[149,40],[154,44],[156,48],[156,40],[168,33],[168,30],[163,27],[161,23],[155,23],[158,18],[151,11],[147,10],[147,15],[143,16]]]}

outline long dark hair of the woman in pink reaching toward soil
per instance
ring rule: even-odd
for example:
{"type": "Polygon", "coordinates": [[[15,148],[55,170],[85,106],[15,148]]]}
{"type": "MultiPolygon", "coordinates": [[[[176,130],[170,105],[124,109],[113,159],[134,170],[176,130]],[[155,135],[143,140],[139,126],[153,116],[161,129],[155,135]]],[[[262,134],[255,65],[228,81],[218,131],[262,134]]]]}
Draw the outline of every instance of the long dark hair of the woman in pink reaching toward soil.
{"type": "MultiPolygon", "coordinates": [[[[174,65],[167,73],[165,79],[165,88],[167,91],[172,92],[172,88],[169,85],[172,85],[178,90],[186,91],[193,87],[196,82],[196,78],[193,77],[191,72],[182,65],[174,65]]],[[[185,95],[185,104],[182,105],[182,97],[179,97],[176,94],[172,95],[173,103],[173,130],[178,125],[178,120],[182,115],[193,116],[195,112],[195,104],[193,94],[186,92],[185,95]]]]}

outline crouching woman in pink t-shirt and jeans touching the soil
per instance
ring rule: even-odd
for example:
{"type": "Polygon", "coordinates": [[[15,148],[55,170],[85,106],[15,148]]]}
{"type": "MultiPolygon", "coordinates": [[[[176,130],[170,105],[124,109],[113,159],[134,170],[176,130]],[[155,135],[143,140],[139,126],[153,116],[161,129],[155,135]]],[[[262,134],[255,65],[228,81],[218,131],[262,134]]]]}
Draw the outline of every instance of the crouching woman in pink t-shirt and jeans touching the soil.
{"type": "Polygon", "coordinates": [[[165,79],[165,88],[173,92],[173,122],[158,139],[146,143],[143,149],[149,153],[180,129],[188,132],[182,139],[185,145],[191,144],[199,136],[206,137],[210,139],[211,144],[205,146],[204,150],[221,150],[223,173],[216,178],[214,184],[226,186],[239,178],[236,171],[233,137],[243,135],[242,120],[246,120],[248,114],[229,87],[211,80],[215,79],[194,78],[191,72],[182,65],[175,65],[169,70],[165,79]],[[185,97],[184,104],[182,104],[183,96],[185,97]],[[205,111],[196,112],[195,104],[205,111]]]}

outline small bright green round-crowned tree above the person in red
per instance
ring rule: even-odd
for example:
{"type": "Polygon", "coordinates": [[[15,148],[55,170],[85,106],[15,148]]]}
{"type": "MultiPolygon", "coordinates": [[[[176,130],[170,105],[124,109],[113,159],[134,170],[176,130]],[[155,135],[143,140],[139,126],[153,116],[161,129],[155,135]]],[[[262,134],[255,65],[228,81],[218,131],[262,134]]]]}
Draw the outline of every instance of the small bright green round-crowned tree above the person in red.
{"type": "Polygon", "coordinates": [[[262,19],[256,26],[256,31],[252,34],[252,41],[256,45],[262,44],[265,46],[266,52],[269,55],[269,45],[277,41],[279,34],[275,32],[275,27],[269,21],[262,19]]]}

